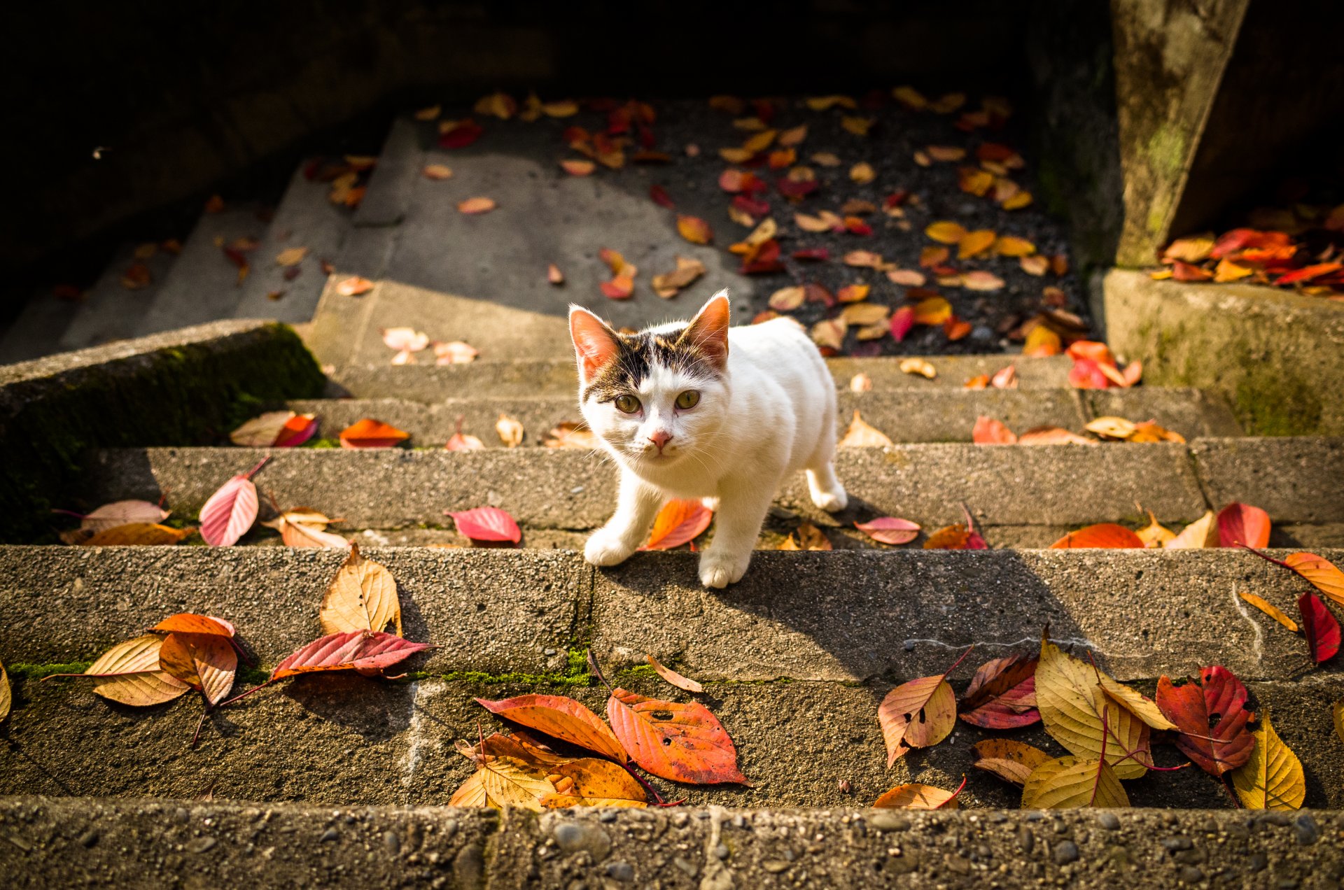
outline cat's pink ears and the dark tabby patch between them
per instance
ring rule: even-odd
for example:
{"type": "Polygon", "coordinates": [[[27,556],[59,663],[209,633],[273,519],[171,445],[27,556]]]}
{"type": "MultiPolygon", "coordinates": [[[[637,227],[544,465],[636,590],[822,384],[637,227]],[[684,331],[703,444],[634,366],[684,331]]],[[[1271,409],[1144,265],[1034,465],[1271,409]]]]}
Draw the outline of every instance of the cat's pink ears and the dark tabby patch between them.
{"type": "Polygon", "coordinates": [[[687,324],[638,333],[614,331],[582,307],[570,307],[570,336],[579,366],[579,399],[607,402],[640,390],[655,367],[689,379],[723,376],[728,359],[728,300],[719,292],[687,324]]]}

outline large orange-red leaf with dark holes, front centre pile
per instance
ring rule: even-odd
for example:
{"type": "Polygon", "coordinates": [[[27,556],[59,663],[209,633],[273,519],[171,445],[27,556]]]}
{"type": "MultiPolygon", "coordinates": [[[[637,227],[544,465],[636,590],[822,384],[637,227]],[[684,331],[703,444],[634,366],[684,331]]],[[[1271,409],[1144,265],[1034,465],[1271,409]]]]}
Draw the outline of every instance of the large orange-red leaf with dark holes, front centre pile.
{"type": "Polygon", "coordinates": [[[695,785],[749,784],[728,733],[698,702],[663,702],[617,688],[606,700],[606,719],[630,758],[655,776],[695,785]]]}

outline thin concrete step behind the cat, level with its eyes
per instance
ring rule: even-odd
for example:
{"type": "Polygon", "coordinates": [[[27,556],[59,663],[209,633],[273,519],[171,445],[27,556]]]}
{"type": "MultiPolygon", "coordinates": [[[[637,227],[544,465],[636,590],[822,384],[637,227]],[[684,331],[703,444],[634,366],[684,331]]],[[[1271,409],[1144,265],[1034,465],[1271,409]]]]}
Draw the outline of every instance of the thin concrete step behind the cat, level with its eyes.
{"type": "MultiPolygon", "coordinates": [[[[902,383],[902,380],[896,380],[902,383]]],[[[445,398],[423,405],[402,399],[312,399],[290,402],[289,407],[316,414],[319,436],[335,438],[340,430],[364,417],[374,417],[411,433],[411,445],[433,446],[448,441],[458,428],[488,446],[501,446],[495,433],[499,415],[508,414],[523,423],[524,445],[538,445],[562,421],[582,419],[575,395],[532,398],[445,398]]],[[[1128,390],[1103,402],[1107,414],[1136,421],[1156,419],[1187,438],[1239,436],[1227,407],[1206,399],[1196,390],[1128,390]]],[[[840,391],[839,433],[853,411],[892,441],[969,442],[976,418],[988,415],[1024,432],[1034,426],[1062,426],[1082,433],[1097,417],[1093,402],[1079,390],[954,390],[894,389],[855,394],[840,391]]]]}

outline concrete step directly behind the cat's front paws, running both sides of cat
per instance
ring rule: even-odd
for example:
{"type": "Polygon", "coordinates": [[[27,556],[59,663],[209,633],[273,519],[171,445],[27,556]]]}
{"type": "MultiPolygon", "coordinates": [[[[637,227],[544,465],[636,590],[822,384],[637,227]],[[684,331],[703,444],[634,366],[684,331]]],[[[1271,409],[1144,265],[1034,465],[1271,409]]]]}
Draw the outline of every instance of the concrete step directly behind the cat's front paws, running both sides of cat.
{"type": "MultiPolygon", "coordinates": [[[[191,519],[263,453],[271,460],[255,477],[262,492],[281,505],[341,516],[356,530],[445,527],[445,510],[482,504],[507,510],[524,530],[583,530],[605,522],[616,497],[606,461],[558,449],[113,449],[94,456],[83,491],[90,505],[163,496],[177,516],[191,519]]],[[[1137,504],[1165,523],[1185,523],[1241,500],[1269,511],[1275,542],[1285,546],[1341,543],[1344,532],[1339,438],[1094,448],[905,444],[841,449],[837,472],[851,496],[847,511],[816,510],[801,475],[785,483],[777,510],[832,527],[876,514],[931,530],[961,522],[965,504],[992,544],[1043,547],[1087,523],[1145,519],[1137,504]]]]}

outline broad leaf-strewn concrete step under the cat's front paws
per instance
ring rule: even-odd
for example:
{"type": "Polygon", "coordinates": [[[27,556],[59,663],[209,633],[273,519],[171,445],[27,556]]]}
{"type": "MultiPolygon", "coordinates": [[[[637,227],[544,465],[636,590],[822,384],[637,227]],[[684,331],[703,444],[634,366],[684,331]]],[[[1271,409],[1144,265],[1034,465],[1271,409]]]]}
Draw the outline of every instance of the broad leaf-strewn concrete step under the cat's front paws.
{"type": "MultiPolygon", "coordinates": [[[[1257,706],[1273,709],[1306,766],[1308,805],[1344,805],[1329,713],[1344,676],[1304,675],[1302,641],[1241,605],[1236,592],[1254,590],[1289,608],[1300,586],[1251,554],[774,553],[716,596],[695,583],[691,554],[641,554],[603,571],[577,554],[368,555],[398,579],[406,636],[438,648],[409,663],[406,682],[304,678],[254,695],[208,718],[191,749],[199,702],[124,709],[86,682],[36,678],[184,609],[234,621],[266,670],[319,635],[317,604],[341,555],[0,549],[11,628],[0,659],[16,692],[0,793],[184,799],[214,785],[222,799],[441,803],[470,772],[453,742],[474,738],[478,721],[487,733],[500,726],[472,698],[554,690],[601,710],[605,691],[577,657],[591,648],[613,682],[644,694],[679,695],[637,667],[645,653],[707,684],[704,700],[753,786],[660,784],[695,805],[847,807],[911,778],[950,788],[965,773],[965,805],[1013,807],[1013,789],[970,768],[970,745],[985,733],[960,726],[888,770],[874,713],[895,684],[943,671],[976,644],[953,674],[962,690],[976,664],[1034,648],[1048,622],[1054,639],[1148,694],[1161,674],[1224,664],[1257,706]]],[[[1340,550],[1321,555],[1344,559],[1340,550]]],[[[1039,727],[1016,737],[1051,746],[1039,727]]],[[[1226,805],[1226,792],[1195,770],[1128,791],[1137,805],[1226,805]]]]}

